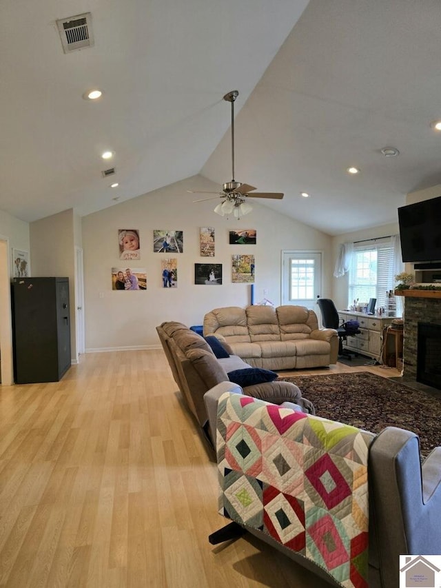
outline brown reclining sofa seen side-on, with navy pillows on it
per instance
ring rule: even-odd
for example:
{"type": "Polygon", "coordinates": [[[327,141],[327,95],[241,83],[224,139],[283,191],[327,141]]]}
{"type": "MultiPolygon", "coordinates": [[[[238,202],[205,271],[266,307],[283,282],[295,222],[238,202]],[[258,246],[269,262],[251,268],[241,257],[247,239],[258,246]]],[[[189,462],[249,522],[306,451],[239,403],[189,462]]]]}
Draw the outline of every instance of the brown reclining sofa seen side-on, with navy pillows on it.
{"type": "MultiPolygon", "coordinates": [[[[228,372],[249,369],[245,361],[236,355],[216,358],[205,339],[183,323],[168,321],[156,327],[159,340],[185,403],[210,440],[208,416],[204,394],[220,382],[228,382],[228,372]]],[[[231,349],[228,349],[231,352],[231,349]]],[[[293,383],[271,381],[243,387],[243,393],[281,405],[295,403],[301,409],[314,414],[314,405],[302,398],[300,389],[293,383]]]]}

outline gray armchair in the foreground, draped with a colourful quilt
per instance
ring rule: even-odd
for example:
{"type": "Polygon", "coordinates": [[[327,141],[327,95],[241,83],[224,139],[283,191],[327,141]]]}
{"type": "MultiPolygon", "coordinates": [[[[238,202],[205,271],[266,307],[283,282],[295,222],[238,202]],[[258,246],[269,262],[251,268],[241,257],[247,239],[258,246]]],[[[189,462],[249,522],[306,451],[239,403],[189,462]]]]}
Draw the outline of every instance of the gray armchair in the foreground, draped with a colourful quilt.
{"type": "MultiPolygon", "coordinates": [[[[224,392],[240,394],[240,388],[222,383],[204,397],[214,438],[218,398],[224,392]]],[[[400,555],[441,554],[441,447],[436,447],[421,464],[418,436],[387,427],[370,445],[368,480],[369,587],[398,587],[400,555]]],[[[209,540],[216,544],[245,531],[283,551],[329,585],[340,586],[314,562],[276,543],[258,529],[230,523],[214,532],[209,540]]]]}

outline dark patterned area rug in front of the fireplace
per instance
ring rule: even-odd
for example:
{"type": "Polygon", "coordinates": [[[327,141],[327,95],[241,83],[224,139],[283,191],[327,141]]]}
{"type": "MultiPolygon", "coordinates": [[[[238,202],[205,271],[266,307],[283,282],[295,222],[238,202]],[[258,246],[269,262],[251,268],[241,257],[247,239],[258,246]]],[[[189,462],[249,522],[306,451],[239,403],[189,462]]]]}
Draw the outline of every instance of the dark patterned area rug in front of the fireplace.
{"type": "Polygon", "coordinates": [[[373,433],[400,427],[420,437],[426,457],[441,445],[441,399],[368,372],[292,376],[293,382],[316,407],[316,414],[373,433]]]}

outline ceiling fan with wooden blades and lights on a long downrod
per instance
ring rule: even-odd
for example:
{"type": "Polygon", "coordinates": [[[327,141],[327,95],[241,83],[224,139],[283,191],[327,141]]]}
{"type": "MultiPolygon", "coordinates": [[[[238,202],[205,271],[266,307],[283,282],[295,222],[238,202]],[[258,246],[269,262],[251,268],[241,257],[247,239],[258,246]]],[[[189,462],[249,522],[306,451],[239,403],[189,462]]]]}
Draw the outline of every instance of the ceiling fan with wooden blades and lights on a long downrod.
{"type": "MultiPolygon", "coordinates": [[[[192,194],[217,194],[222,199],[222,202],[218,203],[214,209],[214,212],[216,212],[216,214],[220,214],[220,216],[233,213],[234,216],[236,216],[236,219],[240,219],[240,216],[248,214],[253,210],[252,206],[247,203],[247,198],[272,198],[277,200],[283,199],[283,194],[281,192],[254,192],[253,194],[249,194],[249,192],[253,192],[256,190],[256,188],[249,184],[236,182],[234,179],[234,101],[238,95],[238,90],[232,90],[232,92],[228,92],[223,97],[225,101],[230,102],[232,105],[232,181],[225,182],[225,184],[223,184],[222,192],[187,190],[187,192],[191,192],[192,194]]],[[[214,196],[212,198],[203,198],[201,200],[195,200],[194,202],[213,200],[218,196],[214,196]]]]}

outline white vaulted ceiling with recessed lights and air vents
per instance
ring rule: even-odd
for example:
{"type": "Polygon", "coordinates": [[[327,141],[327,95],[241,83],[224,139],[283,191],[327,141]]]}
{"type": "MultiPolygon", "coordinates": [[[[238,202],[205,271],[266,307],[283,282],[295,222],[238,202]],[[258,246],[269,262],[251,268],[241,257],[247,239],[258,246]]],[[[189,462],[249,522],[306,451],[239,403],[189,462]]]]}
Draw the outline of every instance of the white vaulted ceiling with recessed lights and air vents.
{"type": "Polygon", "coordinates": [[[235,179],[285,193],[259,204],[328,234],[395,222],[441,183],[440,28],[438,0],[3,0],[0,209],[84,215],[231,180],[237,89],[235,179]],[[85,12],[94,44],[65,54],[56,21],[85,12]]]}

